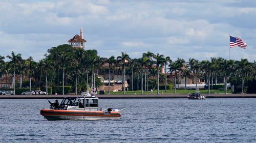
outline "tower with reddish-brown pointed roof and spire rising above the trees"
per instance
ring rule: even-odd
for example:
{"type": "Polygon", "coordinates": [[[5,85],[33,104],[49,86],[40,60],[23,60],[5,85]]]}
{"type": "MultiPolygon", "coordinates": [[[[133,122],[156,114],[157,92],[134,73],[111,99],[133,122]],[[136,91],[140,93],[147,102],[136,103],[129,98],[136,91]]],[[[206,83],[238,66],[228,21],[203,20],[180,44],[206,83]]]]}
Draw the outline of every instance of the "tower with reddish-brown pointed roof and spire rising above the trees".
{"type": "Polygon", "coordinates": [[[83,33],[82,33],[82,28],[80,29],[80,36],[75,35],[72,39],[70,39],[69,44],[74,47],[74,48],[84,48],[86,47],[86,40],[83,39],[83,33]]]}

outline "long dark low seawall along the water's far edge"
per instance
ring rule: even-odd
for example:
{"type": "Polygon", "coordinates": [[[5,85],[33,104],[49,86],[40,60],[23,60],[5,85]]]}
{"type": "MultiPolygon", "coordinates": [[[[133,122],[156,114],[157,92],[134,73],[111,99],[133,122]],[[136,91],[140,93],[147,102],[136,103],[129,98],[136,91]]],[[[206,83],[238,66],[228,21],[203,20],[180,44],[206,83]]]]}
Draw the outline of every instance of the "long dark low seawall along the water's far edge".
{"type": "MultiPolygon", "coordinates": [[[[206,98],[256,98],[256,94],[203,94],[206,98]]],[[[187,98],[185,94],[96,95],[99,99],[187,98]]],[[[61,99],[80,95],[0,95],[0,99],[61,99]]]]}

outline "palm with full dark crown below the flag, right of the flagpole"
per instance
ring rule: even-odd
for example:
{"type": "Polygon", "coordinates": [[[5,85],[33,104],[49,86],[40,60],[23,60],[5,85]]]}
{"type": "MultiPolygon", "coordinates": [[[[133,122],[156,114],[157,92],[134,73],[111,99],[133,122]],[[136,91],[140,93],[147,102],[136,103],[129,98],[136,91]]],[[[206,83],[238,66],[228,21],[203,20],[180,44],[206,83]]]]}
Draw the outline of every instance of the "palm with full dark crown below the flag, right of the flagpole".
{"type": "Polygon", "coordinates": [[[237,61],[237,70],[239,71],[239,73],[242,74],[242,94],[244,94],[244,76],[246,74],[246,72],[253,72],[253,66],[251,63],[248,62],[247,59],[241,59],[241,61],[237,61]]]}

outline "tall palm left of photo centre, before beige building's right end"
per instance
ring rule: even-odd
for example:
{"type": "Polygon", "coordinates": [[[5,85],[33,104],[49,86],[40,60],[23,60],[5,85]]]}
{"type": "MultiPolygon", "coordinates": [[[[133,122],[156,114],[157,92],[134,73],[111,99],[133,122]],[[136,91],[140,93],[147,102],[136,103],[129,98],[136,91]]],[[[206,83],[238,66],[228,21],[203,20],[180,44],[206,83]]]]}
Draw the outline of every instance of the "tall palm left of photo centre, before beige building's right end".
{"type": "Polygon", "coordinates": [[[117,60],[120,60],[120,64],[122,65],[122,86],[123,86],[123,94],[125,94],[125,63],[131,61],[130,57],[126,52],[121,52],[121,56],[117,56],[117,60]]]}

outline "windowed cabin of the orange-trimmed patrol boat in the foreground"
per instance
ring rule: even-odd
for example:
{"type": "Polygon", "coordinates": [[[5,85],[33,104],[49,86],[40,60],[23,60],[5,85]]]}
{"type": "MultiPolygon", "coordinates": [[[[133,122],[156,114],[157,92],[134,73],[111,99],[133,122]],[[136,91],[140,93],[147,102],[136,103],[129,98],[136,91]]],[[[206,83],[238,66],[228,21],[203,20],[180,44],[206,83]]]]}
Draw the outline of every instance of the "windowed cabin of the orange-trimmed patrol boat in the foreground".
{"type": "Polygon", "coordinates": [[[99,99],[96,97],[65,97],[60,105],[60,110],[99,110],[99,99]]]}

